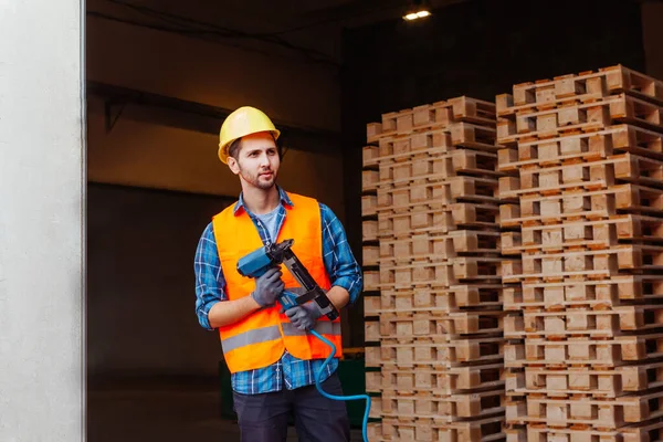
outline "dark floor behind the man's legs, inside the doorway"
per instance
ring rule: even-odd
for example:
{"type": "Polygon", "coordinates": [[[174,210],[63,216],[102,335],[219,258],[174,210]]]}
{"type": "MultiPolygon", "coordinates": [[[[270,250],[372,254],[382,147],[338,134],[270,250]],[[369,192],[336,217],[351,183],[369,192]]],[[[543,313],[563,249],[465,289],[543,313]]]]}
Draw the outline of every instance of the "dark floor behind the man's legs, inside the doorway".
{"type": "MultiPolygon", "coordinates": [[[[87,391],[88,442],[240,441],[235,422],[221,418],[214,386],[110,385],[87,391]]],[[[294,428],[287,441],[297,441],[294,428]]],[[[352,442],[361,432],[352,430],[352,442]]],[[[330,441],[333,442],[333,441],[330,441]]]]}

